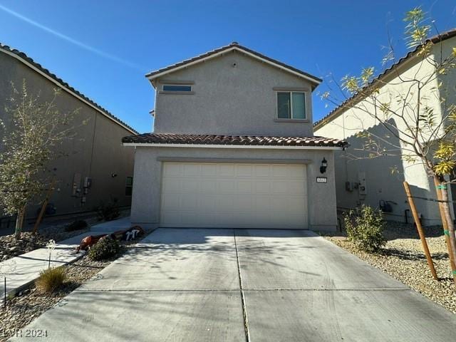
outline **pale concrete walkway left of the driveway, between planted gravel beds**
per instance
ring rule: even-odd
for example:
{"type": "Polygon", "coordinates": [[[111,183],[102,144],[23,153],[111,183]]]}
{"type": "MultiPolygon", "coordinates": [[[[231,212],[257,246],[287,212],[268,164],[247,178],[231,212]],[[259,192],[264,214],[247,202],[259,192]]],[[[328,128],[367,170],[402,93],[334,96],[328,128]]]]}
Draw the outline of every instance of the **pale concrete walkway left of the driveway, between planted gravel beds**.
{"type": "MultiPolygon", "coordinates": [[[[85,252],[76,253],[76,247],[81,239],[88,235],[108,234],[119,229],[130,227],[130,217],[95,224],[90,232],[79,234],[76,237],[63,240],[56,244],[51,254],[51,267],[69,264],[81,258],[85,252]]],[[[0,262],[0,274],[6,274],[7,294],[16,294],[25,289],[38,278],[40,271],[48,268],[49,252],[46,248],[35,249],[32,252],[21,254],[18,257],[0,262]]],[[[3,276],[1,276],[0,298],[4,296],[3,276]]]]}

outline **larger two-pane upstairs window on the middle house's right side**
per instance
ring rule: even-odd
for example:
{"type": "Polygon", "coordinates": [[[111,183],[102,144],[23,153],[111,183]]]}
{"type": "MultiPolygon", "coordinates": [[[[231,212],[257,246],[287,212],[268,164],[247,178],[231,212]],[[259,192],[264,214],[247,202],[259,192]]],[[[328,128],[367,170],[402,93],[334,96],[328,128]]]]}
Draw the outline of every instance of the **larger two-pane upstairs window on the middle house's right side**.
{"type": "Polygon", "coordinates": [[[306,93],[302,91],[279,91],[277,93],[277,118],[305,119],[306,93]]]}

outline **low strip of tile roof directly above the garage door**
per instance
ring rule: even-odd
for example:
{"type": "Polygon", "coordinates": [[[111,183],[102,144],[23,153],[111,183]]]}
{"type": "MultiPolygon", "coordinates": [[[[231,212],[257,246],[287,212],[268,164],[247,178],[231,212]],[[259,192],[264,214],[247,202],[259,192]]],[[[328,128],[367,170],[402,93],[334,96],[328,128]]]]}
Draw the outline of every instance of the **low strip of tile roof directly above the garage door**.
{"type": "Polygon", "coordinates": [[[144,133],[129,135],[123,143],[135,144],[191,144],[191,145],[264,145],[264,146],[319,146],[347,147],[348,142],[323,137],[266,137],[254,135],[194,135],[144,133]]]}

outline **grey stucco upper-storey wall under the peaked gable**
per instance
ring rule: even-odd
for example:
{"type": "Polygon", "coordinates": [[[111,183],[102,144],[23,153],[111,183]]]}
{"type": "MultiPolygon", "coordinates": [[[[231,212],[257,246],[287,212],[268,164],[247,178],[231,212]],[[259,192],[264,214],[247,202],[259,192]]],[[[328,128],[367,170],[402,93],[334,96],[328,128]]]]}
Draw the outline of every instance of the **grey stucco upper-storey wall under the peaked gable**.
{"type": "Polygon", "coordinates": [[[156,82],[155,133],[309,136],[313,132],[311,84],[239,51],[175,71],[156,82]],[[195,93],[160,93],[163,80],[192,81],[195,93]],[[274,87],[307,90],[305,122],[274,122],[274,87]]]}

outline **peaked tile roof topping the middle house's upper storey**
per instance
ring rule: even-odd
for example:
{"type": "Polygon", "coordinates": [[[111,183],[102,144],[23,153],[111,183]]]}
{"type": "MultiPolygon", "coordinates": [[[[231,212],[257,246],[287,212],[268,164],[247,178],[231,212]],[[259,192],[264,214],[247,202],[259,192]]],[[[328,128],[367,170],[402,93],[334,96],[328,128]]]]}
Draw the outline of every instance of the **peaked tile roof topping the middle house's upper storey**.
{"type": "Polygon", "coordinates": [[[253,51],[253,50],[251,50],[249,48],[246,48],[245,46],[240,45],[236,41],[232,42],[231,44],[229,44],[227,46],[222,46],[221,48],[216,48],[216,49],[214,49],[212,51],[208,51],[207,53],[203,53],[202,55],[186,59],[185,61],[172,64],[171,66],[167,66],[165,68],[161,68],[161,69],[158,69],[156,71],[152,71],[150,73],[147,73],[146,77],[147,78],[153,78],[153,76],[155,76],[157,74],[164,73],[166,71],[172,71],[173,69],[178,68],[180,66],[185,66],[186,64],[193,63],[193,62],[199,61],[199,60],[203,60],[204,58],[208,58],[208,57],[210,57],[210,56],[212,56],[212,55],[214,55],[216,53],[220,53],[220,52],[229,50],[231,48],[237,48],[238,50],[246,51],[247,53],[252,53],[254,56],[257,56],[258,58],[261,58],[261,59],[264,59],[264,60],[269,61],[271,63],[277,64],[277,65],[279,65],[279,66],[281,66],[283,68],[286,68],[286,69],[289,69],[291,71],[294,71],[295,73],[300,73],[302,76],[306,76],[306,78],[311,78],[311,80],[313,80],[314,83],[317,86],[318,86],[318,84],[321,83],[321,81],[323,81],[323,80],[321,80],[321,78],[313,76],[310,73],[306,73],[306,72],[301,71],[301,70],[299,70],[297,68],[294,68],[293,66],[289,66],[289,65],[287,65],[285,63],[282,63],[280,61],[277,61],[277,60],[275,60],[273,58],[270,58],[268,56],[264,56],[263,54],[258,53],[257,51],[253,51]]]}

